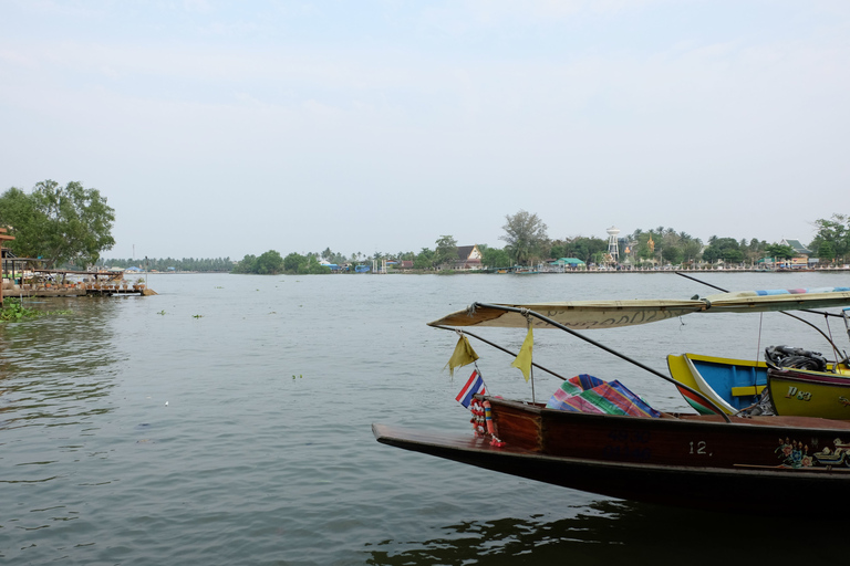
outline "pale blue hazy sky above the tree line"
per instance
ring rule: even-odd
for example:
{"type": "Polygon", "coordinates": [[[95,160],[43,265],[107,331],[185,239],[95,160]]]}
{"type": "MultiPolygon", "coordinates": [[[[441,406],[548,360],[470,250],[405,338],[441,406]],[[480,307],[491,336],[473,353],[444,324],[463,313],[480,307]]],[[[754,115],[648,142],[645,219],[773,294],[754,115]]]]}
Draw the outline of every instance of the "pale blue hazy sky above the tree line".
{"type": "Polygon", "coordinates": [[[0,191],[105,258],[501,248],[850,212],[844,0],[0,0],[0,191]]]}

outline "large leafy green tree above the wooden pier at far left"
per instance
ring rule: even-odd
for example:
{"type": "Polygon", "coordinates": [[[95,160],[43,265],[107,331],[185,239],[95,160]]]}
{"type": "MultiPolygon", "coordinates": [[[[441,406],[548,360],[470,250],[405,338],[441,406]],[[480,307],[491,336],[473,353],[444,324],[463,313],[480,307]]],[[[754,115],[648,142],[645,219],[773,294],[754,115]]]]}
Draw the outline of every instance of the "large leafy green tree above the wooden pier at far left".
{"type": "Polygon", "coordinates": [[[112,226],[115,211],[96,189],[71,181],[60,187],[45,180],[32,193],[12,187],[0,197],[0,224],[15,240],[10,248],[23,256],[40,256],[55,264],[72,261],[93,264],[115,244],[112,226]]]}

